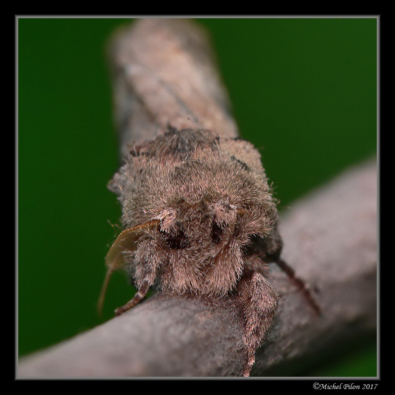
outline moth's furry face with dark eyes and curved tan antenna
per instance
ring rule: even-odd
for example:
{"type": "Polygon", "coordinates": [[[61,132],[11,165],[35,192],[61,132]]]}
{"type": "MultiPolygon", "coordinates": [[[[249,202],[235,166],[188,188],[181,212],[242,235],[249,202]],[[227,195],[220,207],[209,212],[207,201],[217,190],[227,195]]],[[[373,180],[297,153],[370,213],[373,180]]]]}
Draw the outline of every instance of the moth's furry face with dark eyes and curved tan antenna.
{"type": "MultiPolygon", "coordinates": [[[[178,265],[178,273],[189,265],[189,272],[195,273],[196,278],[206,276],[207,289],[224,294],[229,283],[235,285],[242,273],[247,246],[254,237],[267,237],[275,218],[271,211],[258,205],[238,207],[226,199],[213,201],[207,197],[192,202],[178,199],[173,207],[125,229],[117,237],[106,256],[107,273],[98,301],[99,312],[113,271],[126,267],[131,255],[140,262],[137,278],[144,275],[144,265],[148,263],[144,260],[154,262],[150,264],[171,261],[173,267],[178,265]]],[[[187,282],[192,284],[196,278],[187,282]]],[[[197,289],[198,285],[193,287],[197,289]]]]}

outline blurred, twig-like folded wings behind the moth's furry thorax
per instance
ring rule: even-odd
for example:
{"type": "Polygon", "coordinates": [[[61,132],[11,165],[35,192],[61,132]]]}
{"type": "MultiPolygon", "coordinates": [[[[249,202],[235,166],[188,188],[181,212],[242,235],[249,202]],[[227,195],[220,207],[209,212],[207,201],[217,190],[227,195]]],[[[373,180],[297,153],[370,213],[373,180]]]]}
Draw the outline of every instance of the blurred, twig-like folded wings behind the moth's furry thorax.
{"type": "Polygon", "coordinates": [[[230,101],[205,30],[186,19],[140,19],[110,41],[115,123],[127,144],[168,125],[237,136],[230,101]]]}

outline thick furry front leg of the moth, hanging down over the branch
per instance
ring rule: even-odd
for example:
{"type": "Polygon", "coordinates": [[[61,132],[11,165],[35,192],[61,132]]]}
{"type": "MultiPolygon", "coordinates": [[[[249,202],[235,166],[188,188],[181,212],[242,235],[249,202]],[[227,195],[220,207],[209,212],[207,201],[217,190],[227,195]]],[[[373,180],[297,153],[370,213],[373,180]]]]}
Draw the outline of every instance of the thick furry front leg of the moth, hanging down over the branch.
{"type": "Polygon", "coordinates": [[[241,299],[245,344],[248,350],[243,376],[248,377],[255,363],[255,350],[270,333],[279,296],[263,275],[256,271],[244,273],[236,293],[241,299]]]}

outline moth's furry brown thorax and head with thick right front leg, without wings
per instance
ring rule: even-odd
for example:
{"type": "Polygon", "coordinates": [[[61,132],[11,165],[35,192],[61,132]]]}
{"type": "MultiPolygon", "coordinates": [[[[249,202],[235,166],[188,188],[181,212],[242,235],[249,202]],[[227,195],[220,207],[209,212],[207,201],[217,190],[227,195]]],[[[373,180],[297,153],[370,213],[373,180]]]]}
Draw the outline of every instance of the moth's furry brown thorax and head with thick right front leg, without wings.
{"type": "Polygon", "coordinates": [[[240,299],[251,350],[247,370],[274,320],[278,296],[263,273],[282,247],[260,159],[240,138],[170,128],[130,146],[109,183],[124,227],[147,224],[122,253],[136,286],[146,293],[156,282],[164,292],[240,299]]]}

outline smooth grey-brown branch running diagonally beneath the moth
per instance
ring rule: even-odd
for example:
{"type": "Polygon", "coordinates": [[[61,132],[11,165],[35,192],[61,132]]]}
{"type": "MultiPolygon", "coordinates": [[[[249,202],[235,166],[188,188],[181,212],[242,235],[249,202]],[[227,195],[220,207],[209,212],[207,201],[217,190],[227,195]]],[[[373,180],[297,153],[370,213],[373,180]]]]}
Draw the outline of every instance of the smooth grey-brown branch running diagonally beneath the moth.
{"type": "MultiPolygon", "coordinates": [[[[280,293],[254,375],[292,375],[323,352],[376,330],[376,166],[353,168],[281,221],[284,259],[319,289],[316,316],[273,266],[280,293]]],[[[231,299],[157,295],[74,339],[23,358],[19,377],[239,376],[242,321],[231,299]]]]}

